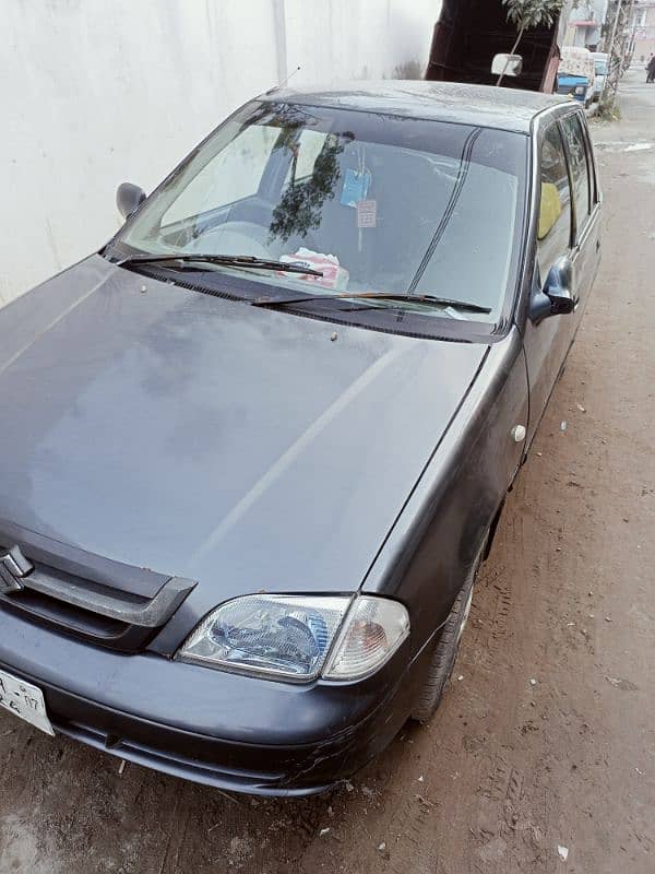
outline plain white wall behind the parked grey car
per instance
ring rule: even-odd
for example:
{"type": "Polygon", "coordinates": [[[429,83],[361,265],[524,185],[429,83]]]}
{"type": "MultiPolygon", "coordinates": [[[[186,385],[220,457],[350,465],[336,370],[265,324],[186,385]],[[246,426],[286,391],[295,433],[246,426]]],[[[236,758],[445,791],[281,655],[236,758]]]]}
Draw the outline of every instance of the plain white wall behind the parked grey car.
{"type": "Polygon", "coordinates": [[[440,0],[2,0],[0,305],[99,248],[225,115],[425,66],[440,0]]]}

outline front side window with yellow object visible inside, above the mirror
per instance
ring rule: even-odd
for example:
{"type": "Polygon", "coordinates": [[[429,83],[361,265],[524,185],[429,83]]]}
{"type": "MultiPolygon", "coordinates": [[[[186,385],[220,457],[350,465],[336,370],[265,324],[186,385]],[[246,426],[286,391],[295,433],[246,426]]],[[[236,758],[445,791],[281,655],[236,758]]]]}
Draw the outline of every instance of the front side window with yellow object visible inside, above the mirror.
{"type": "Polygon", "coordinates": [[[564,146],[557,123],[541,144],[541,200],[537,232],[537,258],[544,281],[555,262],[571,247],[571,188],[564,146]]]}

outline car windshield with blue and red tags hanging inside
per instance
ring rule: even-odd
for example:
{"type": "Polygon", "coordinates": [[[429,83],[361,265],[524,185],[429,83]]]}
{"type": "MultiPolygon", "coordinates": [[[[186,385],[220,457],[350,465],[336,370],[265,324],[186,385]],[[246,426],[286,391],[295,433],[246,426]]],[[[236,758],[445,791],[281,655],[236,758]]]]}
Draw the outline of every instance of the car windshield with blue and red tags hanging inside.
{"type": "MultiPolygon", "coordinates": [[[[434,295],[490,315],[416,311],[496,322],[515,285],[527,143],[495,129],[254,102],[168,177],[115,246],[307,264],[322,276],[254,268],[248,279],[273,296],[434,295]]],[[[393,303],[405,306],[414,304],[393,303]]]]}

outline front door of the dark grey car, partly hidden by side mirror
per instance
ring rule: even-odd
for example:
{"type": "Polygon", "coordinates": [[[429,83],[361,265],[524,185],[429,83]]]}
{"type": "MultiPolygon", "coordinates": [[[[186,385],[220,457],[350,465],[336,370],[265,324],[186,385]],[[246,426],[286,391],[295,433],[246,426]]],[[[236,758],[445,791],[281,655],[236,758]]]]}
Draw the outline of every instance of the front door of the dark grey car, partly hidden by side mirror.
{"type": "MultiPolygon", "coordinates": [[[[573,258],[573,198],[569,164],[557,120],[541,132],[538,142],[537,189],[539,221],[535,239],[536,265],[533,296],[546,285],[550,270],[563,257],[573,258]]],[[[528,316],[523,342],[529,381],[529,423],[526,447],[541,420],[552,388],[575,332],[574,314],[532,320],[528,316]]]]}

